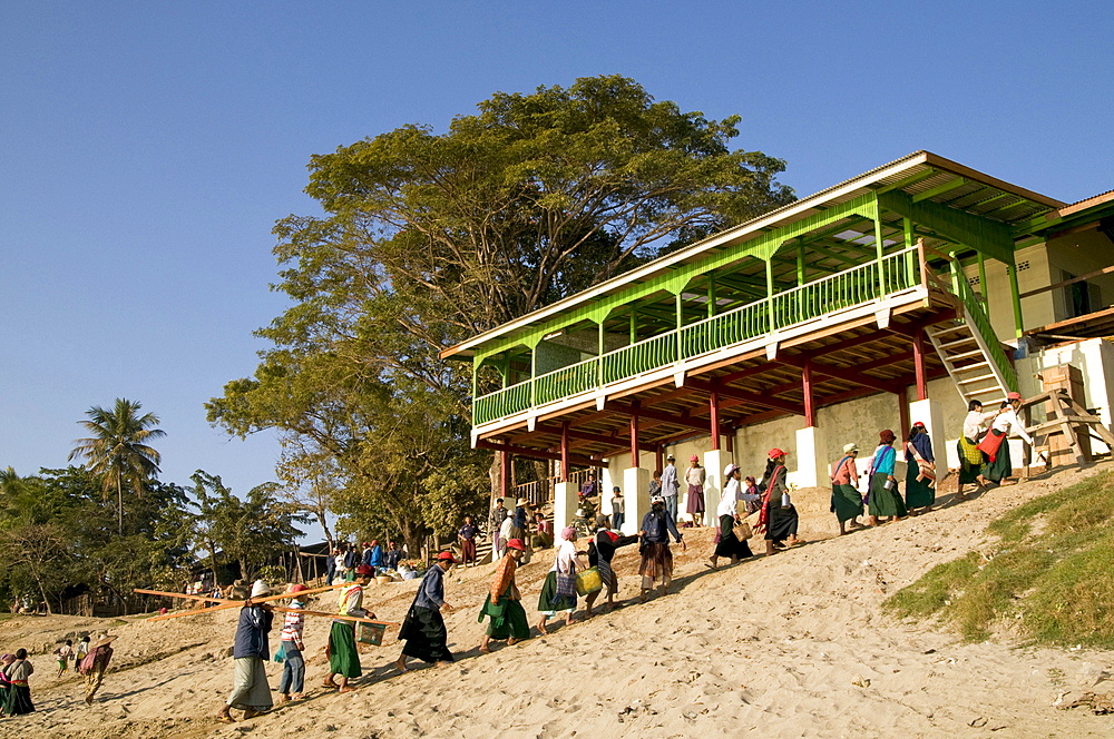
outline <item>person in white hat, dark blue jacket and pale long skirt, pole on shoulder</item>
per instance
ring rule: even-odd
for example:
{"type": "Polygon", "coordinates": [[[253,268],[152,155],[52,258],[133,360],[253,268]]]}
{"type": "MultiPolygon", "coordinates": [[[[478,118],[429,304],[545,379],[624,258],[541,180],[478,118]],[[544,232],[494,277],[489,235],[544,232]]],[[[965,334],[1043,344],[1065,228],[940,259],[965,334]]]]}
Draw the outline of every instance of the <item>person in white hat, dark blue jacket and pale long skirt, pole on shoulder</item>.
{"type": "Polygon", "coordinates": [[[252,585],[252,597],[244,601],[240,609],[240,621],[236,624],[236,641],[233,646],[234,678],[232,694],[217,720],[232,723],[231,709],[243,709],[244,718],[250,719],[274,704],[271,700],[271,686],[267,684],[265,664],[271,659],[271,648],[267,646],[267,634],[275,614],[271,603],[255,603],[252,598],[266,598],[271,588],[262,580],[252,585]]]}

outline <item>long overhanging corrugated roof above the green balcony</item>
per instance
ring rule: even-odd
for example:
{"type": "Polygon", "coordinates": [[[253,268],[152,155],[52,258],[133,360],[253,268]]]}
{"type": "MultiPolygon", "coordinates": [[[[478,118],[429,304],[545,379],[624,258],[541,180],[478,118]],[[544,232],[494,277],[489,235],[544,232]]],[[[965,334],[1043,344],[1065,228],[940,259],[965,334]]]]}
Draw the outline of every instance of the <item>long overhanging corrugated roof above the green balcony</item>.
{"type": "Polygon", "coordinates": [[[1059,200],[990,177],[930,151],[915,151],[906,157],[895,159],[889,164],[876,167],[820,190],[809,197],[771,210],[744,224],[710,236],[683,249],[667,254],[641,267],[616,275],[586,290],[570,295],[520,318],[478,334],[466,342],[444,349],[441,352],[441,357],[470,353],[470,349],[483,342],[546,321],[583,303],[623,289],[631,284],[652,279],[673,268],[675,265],[690,264],[729,246],[759,238],[771,228],[795,223],[822,209],[846,203],[867,193],[885,190],[888,187],[899,187],[899,189],[912,197],[918,195],[924,196],[934,189],[945,187],[949,183],[955,183],[957,178],[964,181],[954,188],[946,189],[939,195],[930,196],[927,199],[1010,225],[1028,220],[1034,216],[1048,213],[1049,210],[1065,207],[1065,204],[1059,200]],[[925,175],[925,177],[921,178],[919,177],[920,175],[925,175]],[[907,181],[910,184],[907,186],[901,185],[907,181]]]}

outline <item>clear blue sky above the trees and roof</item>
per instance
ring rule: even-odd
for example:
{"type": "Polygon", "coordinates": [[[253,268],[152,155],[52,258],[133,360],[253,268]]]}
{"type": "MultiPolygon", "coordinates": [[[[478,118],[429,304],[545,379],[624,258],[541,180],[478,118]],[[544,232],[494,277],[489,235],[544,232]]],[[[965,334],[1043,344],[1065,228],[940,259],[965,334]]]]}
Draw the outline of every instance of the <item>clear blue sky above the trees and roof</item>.
{"type": "Polygon", "coordinates": [[[273,436],[202,404],[255,368],[274,221],[312,154],[443,130],[494,91],[622,73],[809,195],[918,149],[1073,201],[1114,188],[1114,3],[0,4],[0,467],[65,466],[116,397],[163,479],[246,493],[273,436]]]}

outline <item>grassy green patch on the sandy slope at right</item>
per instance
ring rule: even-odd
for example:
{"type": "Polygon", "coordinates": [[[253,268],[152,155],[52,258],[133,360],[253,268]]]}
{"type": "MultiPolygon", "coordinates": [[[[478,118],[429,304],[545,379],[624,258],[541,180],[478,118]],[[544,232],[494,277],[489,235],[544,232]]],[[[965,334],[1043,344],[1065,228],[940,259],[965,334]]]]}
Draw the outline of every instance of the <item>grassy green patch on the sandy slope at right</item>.
{"type": "Polygon", "coordinates": [[[967,640],[1009,623],[1035,643],[1114,647],[1114,474],[1044,495],[990,523],[998,548],[937,565],[883,608],[936,615],[967,640]]]}

